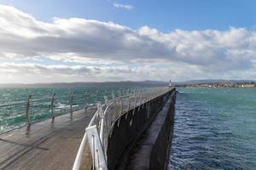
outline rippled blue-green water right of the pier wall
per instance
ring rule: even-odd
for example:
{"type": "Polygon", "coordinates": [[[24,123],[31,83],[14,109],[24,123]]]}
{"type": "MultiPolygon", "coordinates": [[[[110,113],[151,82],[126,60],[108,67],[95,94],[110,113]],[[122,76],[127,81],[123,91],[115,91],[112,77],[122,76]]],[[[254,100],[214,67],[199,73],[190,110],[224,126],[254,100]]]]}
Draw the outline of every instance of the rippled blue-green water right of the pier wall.
{"type": "Polygon", "coordinates": [[[169,169],[256,169],[256,88],[177,88],[169,169]]]}

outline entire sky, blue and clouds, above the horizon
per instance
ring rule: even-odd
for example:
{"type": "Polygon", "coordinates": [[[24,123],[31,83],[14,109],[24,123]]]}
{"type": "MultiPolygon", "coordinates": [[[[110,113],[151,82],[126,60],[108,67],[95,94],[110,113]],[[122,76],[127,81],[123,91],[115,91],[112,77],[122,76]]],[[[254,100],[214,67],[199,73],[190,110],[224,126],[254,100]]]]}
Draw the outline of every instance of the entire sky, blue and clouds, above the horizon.
{"type": "Polygon", "coordinates": [[[0,0],[0,83],[256,80],[256,1],[0,0]]]}

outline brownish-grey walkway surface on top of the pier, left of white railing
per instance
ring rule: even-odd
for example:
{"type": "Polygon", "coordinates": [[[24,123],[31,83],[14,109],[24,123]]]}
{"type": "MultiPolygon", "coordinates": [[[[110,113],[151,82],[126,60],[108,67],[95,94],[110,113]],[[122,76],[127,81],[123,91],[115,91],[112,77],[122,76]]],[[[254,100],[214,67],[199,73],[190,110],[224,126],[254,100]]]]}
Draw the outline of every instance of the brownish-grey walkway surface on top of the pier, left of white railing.
{"type": "Polygon", "coordinates": [[[72,169],[96,108],[55,117],[0,135],[0,169],[72,169]]]}

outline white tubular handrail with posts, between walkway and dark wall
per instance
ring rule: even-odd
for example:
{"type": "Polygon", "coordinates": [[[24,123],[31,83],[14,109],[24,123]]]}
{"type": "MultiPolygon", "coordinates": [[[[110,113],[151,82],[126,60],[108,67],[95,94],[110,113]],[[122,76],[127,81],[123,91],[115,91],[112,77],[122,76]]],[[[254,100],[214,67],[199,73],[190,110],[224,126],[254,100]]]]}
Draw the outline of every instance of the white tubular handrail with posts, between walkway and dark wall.
{"type": "MultiPolygon", "coordinates": [[[[131,99],[134,99],[134,105],[132,109],[136,108],[138,105],[142,105],[143,103],[146,103],[148,100],[154,99],[157,96],[160,96],[161,94],[165,94],[167,91],[169,91],[170,88],[154,88],[154,90],[143,90],[141,93],[136,94],[128,94],[124,96],[120,96],[115,99],[111,99],[107,101],[103,106],[98,105],[98,110],[96,111],[95,115],[92,117],[89,126],[86,128],[84,132],[84,136],[82,139],[82,142],[79,146],[78,154],[75,158],[74,164],[73,164],[73,170],[79,170],[80,162],[82,160],[83,156],[83,150],[86,144],[86,139],[90,139],[90,137],[87,136],[87,129],[90,129],[89,127],[93,127],[96,125],[97,133],[100,135],[100,141],[97,143],[100,143],[102,145],[102,150],[104,154],[104,161],[102,162],[102,165],[106,165],[106,161],[108,160],[107,157],[107,149],[108,149],[108,136],[110,135],[111,128],[113,127],[113,122],[115,122],[119,116],[125,114],[126,111],[129,111],[131,108],[131,99]],[[137,100],[139,99],[139,103],[137,103],[137,100]],[[127,102],[128,103],[125,103],[127,102]],[[120,105],[119,105],[120,104],[120,105]],[[126,109],[123,108],[124,106],[127,106],[126,109]],[[102,108],[104,108],[104,111],[102,111],[102,108]],[[112,109],[111,109],[112,108],[112,109]],[[111,111],[112,110],[112,111],[111,111]]],[[[95,131],[94,131],[95,132],[95,131]]],[[[91,133],[91,131],[90,131],[91,133]]],[[[97,134],[96,134],[97,135],[97,134]]],[[[93,135],[94,136],[94,135],[93,135]]],[[[95,140],[93,140],[95,141],[95,140]]],[[[97,152],[98,153],[98,152],[97,152]]],[[[92,153],[92,155],[95,155],[95,153],[92,153]]],[[[98,158],[99,159],[99,158],[98,158]]],[[[95,166],[95,160],[93,157],[93,167],[100,167],[100,165],[95,166]]],[[[99,160],[97,160],[97,164],[99,164],[99,160]]],[[[106,167],[106,166],[103,166],[106,167]]],[[[103,168],[101,167],[101,168],[103,168]]]]}

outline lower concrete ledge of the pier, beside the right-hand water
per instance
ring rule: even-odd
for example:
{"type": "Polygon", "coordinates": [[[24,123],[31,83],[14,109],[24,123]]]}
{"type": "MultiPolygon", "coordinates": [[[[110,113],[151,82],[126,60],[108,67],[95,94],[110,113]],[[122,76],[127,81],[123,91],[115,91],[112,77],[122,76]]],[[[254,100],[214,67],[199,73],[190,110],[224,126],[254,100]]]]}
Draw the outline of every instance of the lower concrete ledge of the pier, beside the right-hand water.
{"type": "Polygon", "coordinates": [[[132,147],[124,169],[166,169],[173,123],[174,101],[169,99],[154,122],[132,147]]]}

